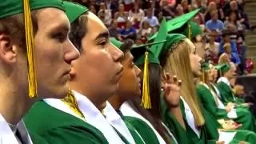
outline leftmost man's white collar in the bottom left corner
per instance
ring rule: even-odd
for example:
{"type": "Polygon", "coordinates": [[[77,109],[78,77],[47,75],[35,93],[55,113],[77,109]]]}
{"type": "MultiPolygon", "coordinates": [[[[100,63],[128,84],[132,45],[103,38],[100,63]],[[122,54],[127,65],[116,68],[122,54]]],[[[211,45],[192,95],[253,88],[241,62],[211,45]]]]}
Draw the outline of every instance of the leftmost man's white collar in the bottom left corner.
{"type": "MultiPolygon", "coordinates": [[[[24,141],[26,144],[33,144],[23,121],[18,122],[17,129],[21,134],[22,141],[24,141]]],[[[10,129],[10,126],[6,122],[5,118],[2,117],[2,114],[0,114],[0,143],[18,144],[13,131],[10,129]]]]}

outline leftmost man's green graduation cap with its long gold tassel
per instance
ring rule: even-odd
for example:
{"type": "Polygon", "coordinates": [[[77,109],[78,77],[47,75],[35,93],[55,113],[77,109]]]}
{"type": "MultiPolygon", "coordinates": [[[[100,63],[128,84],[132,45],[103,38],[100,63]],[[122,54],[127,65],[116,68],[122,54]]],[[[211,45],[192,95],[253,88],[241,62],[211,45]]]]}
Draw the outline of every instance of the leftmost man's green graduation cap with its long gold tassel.
{"type": "Polygon", "coordinates": [[[65,10],[65,8],[62,6],[61,0],[6,0],[0,2],[0,18],[6,18],[22,13],[24,15],[26,55],[28,62],[28,89],[30,98],[38,96],[36,66],[34,60],[34,32],[31,10],[38,10],[46,7],[65,10]]]}

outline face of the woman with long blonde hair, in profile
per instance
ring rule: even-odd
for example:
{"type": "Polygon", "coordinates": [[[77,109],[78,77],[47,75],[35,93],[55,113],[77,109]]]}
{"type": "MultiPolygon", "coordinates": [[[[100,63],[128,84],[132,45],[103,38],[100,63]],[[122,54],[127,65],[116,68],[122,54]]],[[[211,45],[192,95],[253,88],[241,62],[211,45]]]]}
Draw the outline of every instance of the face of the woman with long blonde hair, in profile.
{"type": "Polygon", "coordinates": [[[189,39],[186,39],[186,42],[190,46],[190,66],[191,66],[191,70],[192,70],[194,76],[198,77],[202,74],[202,72],[201,72],[201,63],[200,63],[202,58],[198,56],[194,44],[189,39]]]}

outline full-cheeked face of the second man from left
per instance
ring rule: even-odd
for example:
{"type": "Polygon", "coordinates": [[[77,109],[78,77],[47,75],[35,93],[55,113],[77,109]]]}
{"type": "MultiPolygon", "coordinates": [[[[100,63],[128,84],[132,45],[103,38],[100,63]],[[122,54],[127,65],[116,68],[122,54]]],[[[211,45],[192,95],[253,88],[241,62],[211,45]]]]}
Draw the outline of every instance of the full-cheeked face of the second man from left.
{"type": "Polygon", "coordinates": [[[75,78],[84,94],[106,101],[118,90],[123,53],[111,44],[109,31],[95,14],[89,12],[87,18],[83,50],[73,64],[75,78]]]}

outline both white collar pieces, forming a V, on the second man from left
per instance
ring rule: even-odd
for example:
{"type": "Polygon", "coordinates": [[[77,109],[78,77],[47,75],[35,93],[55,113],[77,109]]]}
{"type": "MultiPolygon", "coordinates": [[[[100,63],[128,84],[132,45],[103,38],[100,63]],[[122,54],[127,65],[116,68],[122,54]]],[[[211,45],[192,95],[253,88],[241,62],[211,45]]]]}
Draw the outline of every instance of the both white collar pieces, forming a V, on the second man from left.
{"type": "Polygon", "coordinates": [[[62,110],[68,114],[74,115],[77,118],[82,119],[83,121],[89,123],[90,125],[96,127],[98,130],[102,132],[104,137],[109,143],[123,144],[122,139],[115,132],[114,128],[110,125],[109,122],[106,121],[106,118],[102,115],[102,113],[98,110],[96,106],[86,96],[79,94],[74,91],[74,97],[78,102],[78,108],[81,110],[82,114],[86,119],[79,117],[72,110],[70,110],[69,106],[66,106],[64,102],[60,99],[54,98],[46,98],[44,101],[54,108],[58,110],[62,110]]]}

